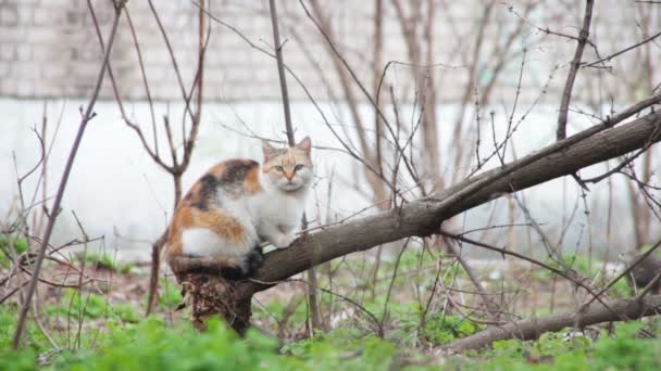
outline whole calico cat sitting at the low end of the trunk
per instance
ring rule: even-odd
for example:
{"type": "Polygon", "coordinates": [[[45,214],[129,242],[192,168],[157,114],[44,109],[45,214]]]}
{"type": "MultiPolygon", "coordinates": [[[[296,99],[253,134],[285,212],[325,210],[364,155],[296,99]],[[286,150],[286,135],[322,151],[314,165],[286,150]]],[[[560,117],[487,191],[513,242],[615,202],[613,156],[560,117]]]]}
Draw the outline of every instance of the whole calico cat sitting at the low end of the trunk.
{"type": "Polygon", "coordinates": [[[309,137],[287,149],[264,141],[261,166],[234,158],[212,167],[173,215],[167,258],[213,256],[225,279],[252,276],[262,261],[261,241],[284,248],[295,240],[313,178],[311,146],[309,137]]]}

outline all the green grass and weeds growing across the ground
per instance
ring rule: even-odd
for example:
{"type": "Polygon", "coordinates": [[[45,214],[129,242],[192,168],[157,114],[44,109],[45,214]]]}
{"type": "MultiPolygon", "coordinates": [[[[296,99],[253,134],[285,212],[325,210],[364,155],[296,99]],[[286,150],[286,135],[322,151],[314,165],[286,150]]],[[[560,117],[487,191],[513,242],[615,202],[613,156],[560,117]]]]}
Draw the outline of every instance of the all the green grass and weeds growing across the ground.
{"type": "MultiPolygon", "coordinates": [[[[87,263],[105,257],[84,257],[87,263]]],[[[329,331],[307,334],[308,305],[304,292],[287,299],[274,297],[253,304],[253,322],[273,330],[286,328],[284,344],[257,331],[241,338],[222,321],[212,320],[208,330],[194,330],[183,315],[170,316],[182,303],[180,287],[172,280],[161,280],[157,317],[142,318],[142,310],[130,302],[110,303],[108,294],[63,290],[55,303],[45,303],[41,314],[47,328],[61,349],[54,349],[35,321],[27,322],[24,344],[11,350],[18,307],[0,306],[0,370],[653,370],[661,369],[661,341],[643,338],[640,329],[659,334],[654,319],[615,323],[613,331],[601,331],[597,340],[586,336],[568,338],[571,329],[542,334],[538,341],[508,340],[487,349],[464,355],[437,355],[429,349],[482,331],[485,327],[450,311],[444,315],[440,302],[425,314],[426,298],[433,289],[438,267],[431,254],[408,251],[402,255],[392,293],[395,260],[384,261],[379,281],[374,285],[360,282],[371,277],[371,266],[363,261],[345,261],[334,277],[334,291],[360,303],[381,321],[385,336],[378,337],[373,320],[362,309],[338,295],[319,293],[321,307],[328,310],[352,310],[329,331]],[[384,268],[385,267],[385,268],[384,268]],[[426,269],[420,277],[404,272],[426,269]],[[429,268],[431,267],[431,268],[429,268]],[[350,271],[351,272],[348,272],[350,271]],[[413,285],[420,291],[414,294],[413,285]],[[359,287],[359,289],[351,289],[359,287]],[[375,295],[371,295],[374,290],[375,295]],[[387,306],[386,306],[387,303],[387,306]],[[263,307],[262,307],[263,305],[263,307]],[[386,309],[387,308],[387,309],[386,309]],[[386,309],[386,310],[385,310],[386,309]],[[288,321],[277,323],[289,312],[288,321]],[[423,319],[424,315],[424,321],[423,319]],[[165,320],[167,319],[167,320],[165,320]],[[83,323],[78,333],[78,324],[83,323]]],[[[574,268],[586,265],[581,257],[574,268]]],[[[108,263],[108,261],[107,261],[108,263]]],[[[107,264],[104,263],[104,264],[107,264]]],[[[464,273],[457,265],[444,265],[440,278],[450,282],[464,273]]],[[[319,271],[323,271],[320,269],[319,271]]],[[[320,278],[320,284],[326,283],[320,278]]],[[[545,278],[538,278],[545,279],[545,278]]],[[[465,279],[464,279],[465,281],[465,279]]],[[[624,283],[624,281],[623,281],[624,283]]],[[[625,283],[624,283],[625,284],[625,283]]],[[[627,286],[616,290],[624,291],[627,286]]],[[[626,295],[627,292],[616,292],[626,295]]],[[[146,297],[141,297],[146,300],[146,297]]],[[[538,308],[538,314],[548,310],[538,308]]]]}

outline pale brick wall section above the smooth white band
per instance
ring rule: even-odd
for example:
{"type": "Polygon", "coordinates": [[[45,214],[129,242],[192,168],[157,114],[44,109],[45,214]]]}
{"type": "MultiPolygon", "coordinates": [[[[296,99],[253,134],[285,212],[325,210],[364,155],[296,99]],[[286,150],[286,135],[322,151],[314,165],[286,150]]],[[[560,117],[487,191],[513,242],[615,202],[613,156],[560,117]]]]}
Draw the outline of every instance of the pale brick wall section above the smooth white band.
{"type": "MultiPolygon", "coordinates": [[[[92,3],[103,37],[107,38],[113,16],[110,2],[92,0],[92,3]]],[[[153,3],[175,51],[185,85],[190,87],[197,63],[198,10],[188,0],[154,0],[153,3]]],[[[323,101],[341,95],[332,54],[298,1],[278,3],[282,37],[288,40],[285,46],[288,65],[316,99],[323,101]],[[333,94],[328,92],[328,85],[333,94]]],[[[364,86],[372,87],[369,63],[373,53],[373,2],[345,0],[321,3],[332,20],[344,55],[364,86]]],[[[437,21],[433,34],[434,63],[462,65],[471,57],[485,3],[483,0],[437,2],[437,21]]],[[[266,4],[265,0],[211,1],[211,12],[240,29],[257,46],[270,49],[272,34],[266,4]]],[[[520,13],[525,7],[522,1],[513,1],[512,5],[520,13]]],[[[636,24],[640,23],[645,10],[656,9],[661,13],[661,7],[643,7],[645,5],[622,0],[597,2],[593,39],[599,41],[601,55],[608,55],[643,38],[636,24]]],[[[170,54],[147,0],[130,0],[127,8],[136,28],[152,97],[157,100],[180,100],[180,89],[170,54]]],[[[384,61],[408,62],[407,47],[390,1],[384,1],[384,61]]],[[[583,2],[550,1],[533,10],[527,20],[531,24],[576,35],[582,14],[583,2]]],[[[427,15],[423,12],[417,16],[427,15]]],[[[658,30],[660,18],[659,14],[650,17],[652,31],[658,30]]],[[[478,81],[488,79],[492,73],[492,51],[504,43],[508,33],[516,27],[517,22],[519,18],[508,11],[507,5],[497,2],[485,33],[481,52],[484,56],[477,68],[478,81]]],[[[415,23],[415,17],[412,23],[415,23]]],[[[122,18],[120,27],[112,53],[112,68],[119,89],[126,99],[145,99],[137,53],[126,17],[122,18]]],[[[250,48],[227,28],[213,22],[211,27],[204,75],[207,99],[279,99],[274,60],[250,48]]],[[[574,44],[574,41],[546,36],[529,25],[525,26],[523,38],[514,41],[506,72],[498,81],[496,95],[506,97],[506,100],[514,95],[524,46],[527,48],[528,61],[522,95],[531,99],[538,93],[554,65],[566,67],[574,44]]],[[[594,60],[596,56],[595,50],[587,48],[585,60],[594,60]]],[[[651,56],[654,61],[659,60],[659,48],[652,50],[651,56]]],[[[95,82],[101,57],[85,0],[0,0],[0,97],[86,97],[95,82]]],[[[638,60],[634,55],[619,60],[615,66],[620,69],[609,75],[610,80],[603,82],[599,91],[615,98],[622,95],[623,89],[619,88],[619,84],[627,79],[632,66],[635,67],[638,63],[636,61],[638,60]]],[[[565,71],[561,69],[554,76],[551,89],[560,89],[565,71]]],[[[410,72],[410,67],[394,67],[389,82],[398,89],[413,91],[415,84],[410,72]]],[[[469,68],[437,68],[435,72],[439,101],[460,101],[469,80],[469,68]]],[[[589,77],[603,73],[586,72],[586,78],[577,81],[576,93],[589,98],[588,89],[594,88],[589,84],[589,77]]],[[[653,76],[647,77],[649,80],[652,78],[653,76]]],[[[289,86],[294,99],[305,99],[303,89],[291,78],[289,86]]],[[[358,89],[356,94],[361,97],[358,89]]],[[[412,97],[411,93],[409,95],[412,97]]],[[[112,99],[109,84],[103,87],[101,97],[112,99]]]]}

